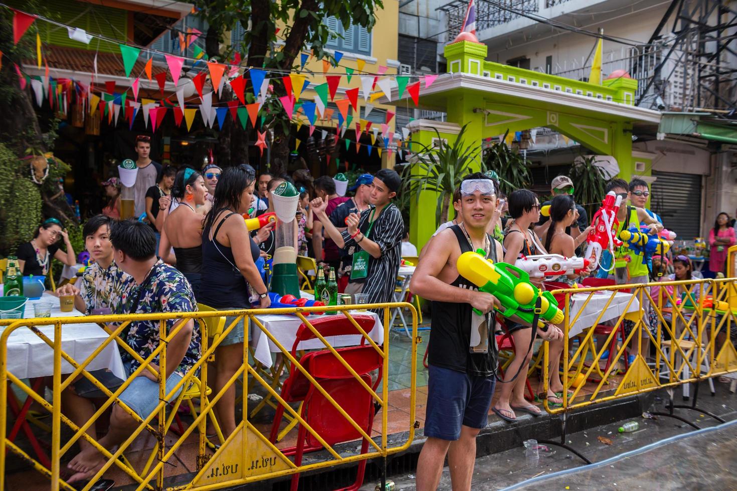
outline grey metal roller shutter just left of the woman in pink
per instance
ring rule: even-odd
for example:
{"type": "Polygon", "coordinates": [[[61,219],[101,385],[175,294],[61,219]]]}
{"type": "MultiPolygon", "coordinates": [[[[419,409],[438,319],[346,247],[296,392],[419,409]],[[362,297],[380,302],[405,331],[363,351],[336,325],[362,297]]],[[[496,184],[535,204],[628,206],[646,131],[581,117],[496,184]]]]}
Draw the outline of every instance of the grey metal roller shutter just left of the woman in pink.
{"type": "Polygon", "coordinates": [[[653,172],[650,208],[660,215],[663,225],[678,234],[678,239],[691,240],[701,233],[701,181],[699,174],[653,172]]]}

